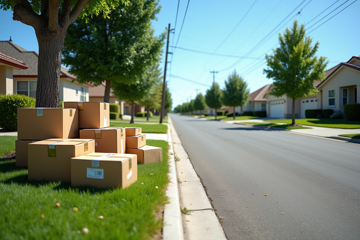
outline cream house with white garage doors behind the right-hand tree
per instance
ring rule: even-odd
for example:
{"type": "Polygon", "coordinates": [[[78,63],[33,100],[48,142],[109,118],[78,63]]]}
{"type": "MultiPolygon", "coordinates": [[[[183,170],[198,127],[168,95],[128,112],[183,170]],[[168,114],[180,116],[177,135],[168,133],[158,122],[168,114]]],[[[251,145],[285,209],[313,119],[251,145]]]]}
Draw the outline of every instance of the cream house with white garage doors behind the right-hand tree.
{"type": "MultiPolygon", "coordinates": [[[[344,111],[347,103],[359,103],[360,93],[360,56],[352,56],[346,63],[339,63],[325,73],[325,80],[314,81],[319,90],[317,95],[295,100],[295,117],[305,118],[307,109],[333,109],[344,111]]],[[[273,86],[270,87],[270,90],[273,86]]],[[[267,117],[291,118],[292,99],[285,94],[279,98],[265,96],[267,117]]]]}

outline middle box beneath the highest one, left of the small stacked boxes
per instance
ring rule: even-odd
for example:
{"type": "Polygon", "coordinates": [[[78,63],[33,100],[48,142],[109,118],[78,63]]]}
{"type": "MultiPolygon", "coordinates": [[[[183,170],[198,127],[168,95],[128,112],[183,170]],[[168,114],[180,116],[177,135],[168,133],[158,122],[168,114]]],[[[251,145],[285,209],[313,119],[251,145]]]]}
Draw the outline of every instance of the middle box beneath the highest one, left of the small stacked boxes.
{"type": "Polygon", "coordinates": [[[81,129],[81,139],[95,140],[95,153],[125,153],[125,127],[81,129]]]}

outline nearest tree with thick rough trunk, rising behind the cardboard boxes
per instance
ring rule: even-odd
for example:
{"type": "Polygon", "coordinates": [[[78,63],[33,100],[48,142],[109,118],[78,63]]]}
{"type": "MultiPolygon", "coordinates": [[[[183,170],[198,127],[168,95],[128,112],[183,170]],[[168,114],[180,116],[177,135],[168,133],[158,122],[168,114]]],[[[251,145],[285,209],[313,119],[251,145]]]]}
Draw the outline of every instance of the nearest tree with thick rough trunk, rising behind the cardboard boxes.
{"type": "Polygon", "coordinates": [[[129,0],[0,0],[0,9],[12,10],[13,20],[34,28],[39,44],[36,107],[59,107],[61,50],[68,26],[76,18],[105,18],[129,0]]]}

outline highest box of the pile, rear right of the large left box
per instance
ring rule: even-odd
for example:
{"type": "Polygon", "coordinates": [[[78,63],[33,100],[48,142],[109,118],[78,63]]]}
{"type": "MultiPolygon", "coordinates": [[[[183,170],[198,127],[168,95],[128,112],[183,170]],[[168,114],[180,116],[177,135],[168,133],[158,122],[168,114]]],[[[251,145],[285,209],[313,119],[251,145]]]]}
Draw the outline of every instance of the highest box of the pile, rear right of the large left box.
{"type": "Polygon", "coordinates": [[[79,128],[110,127],[109,104],[103,102],[64,102],[64,108],[77,108],[79,128]]]}

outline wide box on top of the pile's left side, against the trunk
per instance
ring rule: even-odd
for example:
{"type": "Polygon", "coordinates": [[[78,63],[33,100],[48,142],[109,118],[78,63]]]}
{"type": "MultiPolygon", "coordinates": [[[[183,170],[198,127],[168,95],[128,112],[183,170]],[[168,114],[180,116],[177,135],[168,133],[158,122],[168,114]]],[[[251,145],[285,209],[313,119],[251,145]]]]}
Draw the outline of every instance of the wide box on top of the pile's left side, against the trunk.
{"type": "Polygon", "coordinates": [[[45,140],[78,136],[78,110],[18,108],[18,139],[45,140]]]}

